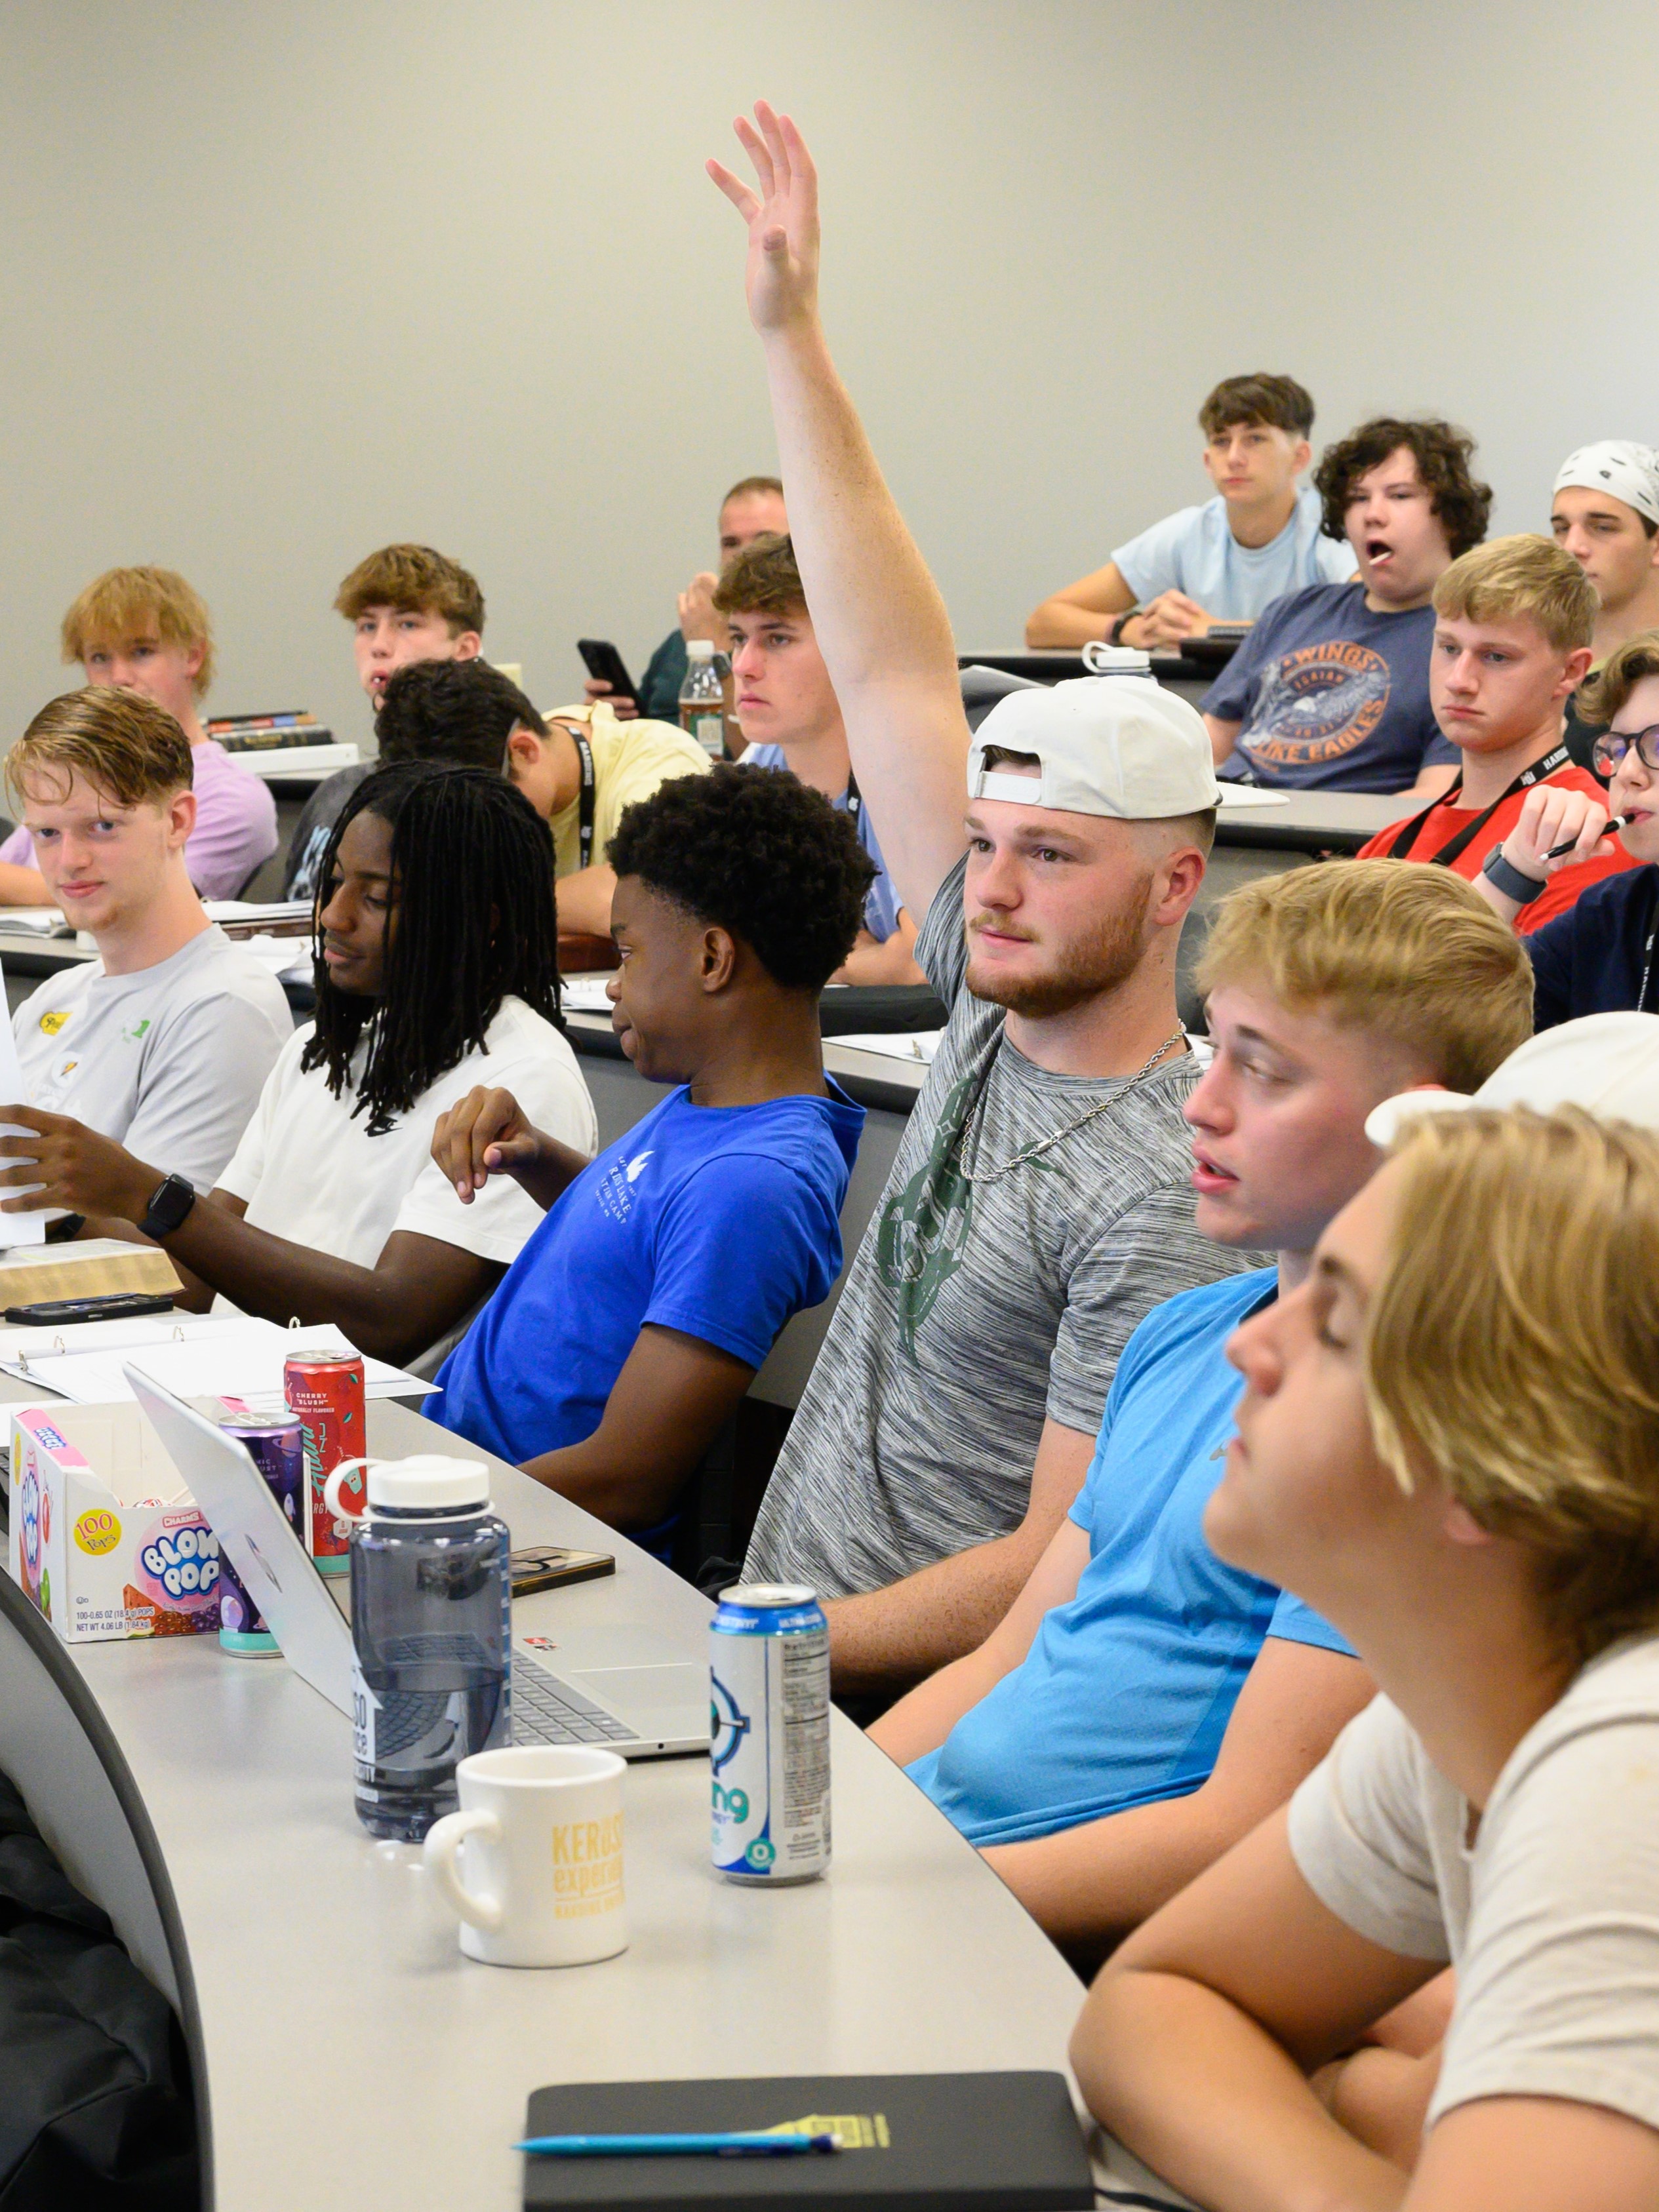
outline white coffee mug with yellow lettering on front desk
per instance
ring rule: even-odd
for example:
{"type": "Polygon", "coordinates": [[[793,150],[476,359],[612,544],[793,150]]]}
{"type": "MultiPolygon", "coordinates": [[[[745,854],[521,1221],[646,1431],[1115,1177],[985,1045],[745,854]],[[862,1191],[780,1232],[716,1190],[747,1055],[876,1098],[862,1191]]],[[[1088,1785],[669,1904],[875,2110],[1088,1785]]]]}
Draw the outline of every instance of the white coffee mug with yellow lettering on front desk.
{"type": "Polygon", "coordinates": [[[518,1743],[456,1767],[460,1812],[427,1829],[427,1867],[489,1966],[582,1966],[628,1949],[615,1752],[518,1743]],[[456,1860],[465,1858],[467,1880],[456,1860]]]}

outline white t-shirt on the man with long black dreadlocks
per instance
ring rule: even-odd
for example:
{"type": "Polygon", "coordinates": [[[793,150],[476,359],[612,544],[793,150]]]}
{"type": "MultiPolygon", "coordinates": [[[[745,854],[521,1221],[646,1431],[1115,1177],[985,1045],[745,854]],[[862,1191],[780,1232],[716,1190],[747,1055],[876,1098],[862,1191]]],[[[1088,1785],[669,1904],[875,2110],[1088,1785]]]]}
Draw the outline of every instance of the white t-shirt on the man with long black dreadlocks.
{"type": "MultiPolygon", "coordinates": [[[[544,1219],[535,1199],[524,1197],[511,1175],[491,1175],[471,1206],[462,1206],[431,1157],[438,1115],[473,1084],[511,1091],[535,1128],[588,1157],[597,1150],[599,1124],[575,1053],[522,998],[504,1000],[484,1033],[484,1051],[440,1075],[383,1137],[369,1137],[367,1110],[352,1115],[354,1084],[334,1097],[325,1068],[301,1071],[310,1035],[307,1022],[290,1037],[237,1157],[219,1177],[221,1190],[246,1201],[246,1219],[272,1237],[358,1267],[374,1267],[394,1230],[434,1237],[480,1259],[515,1261],[544,1219]]],[[[354,1079],[365,1060],[367,1044],[361,1044],[354,1079]]],[[[215,1312],[234,1307],[217,1298],[215,1312]]]]}

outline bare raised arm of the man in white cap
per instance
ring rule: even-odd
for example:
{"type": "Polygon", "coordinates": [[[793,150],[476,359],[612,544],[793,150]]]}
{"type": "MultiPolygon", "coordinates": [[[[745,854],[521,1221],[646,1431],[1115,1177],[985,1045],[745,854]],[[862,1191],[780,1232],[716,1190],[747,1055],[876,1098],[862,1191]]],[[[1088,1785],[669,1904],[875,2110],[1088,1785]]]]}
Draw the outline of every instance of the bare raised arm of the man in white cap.
{"type": "Polygon", "coordinates": [[[847,723],[858,790],[920,922],[962,854],[967,719],[945,602],[883,482],[818,323],[818,177],[765,102],[739,119],[759,190],[719,161],[748,223],[748,303],[765,347],[812,628],[847,723]]]}

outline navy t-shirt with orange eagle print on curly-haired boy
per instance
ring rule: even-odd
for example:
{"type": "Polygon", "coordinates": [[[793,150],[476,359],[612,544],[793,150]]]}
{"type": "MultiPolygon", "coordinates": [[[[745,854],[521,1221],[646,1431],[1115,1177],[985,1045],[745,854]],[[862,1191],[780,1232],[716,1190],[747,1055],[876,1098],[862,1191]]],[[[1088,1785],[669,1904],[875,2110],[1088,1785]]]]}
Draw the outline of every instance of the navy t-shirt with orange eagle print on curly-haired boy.
{"type": "Polygon", "coordinates": [[[1429,706],[1433,608],[1378,615],[1365,584],[1276,599],[1203,695],[1241,723],[1221,781],[1305,792],[1405,792],[1418,770],[1455,765],[1429,706]]]}

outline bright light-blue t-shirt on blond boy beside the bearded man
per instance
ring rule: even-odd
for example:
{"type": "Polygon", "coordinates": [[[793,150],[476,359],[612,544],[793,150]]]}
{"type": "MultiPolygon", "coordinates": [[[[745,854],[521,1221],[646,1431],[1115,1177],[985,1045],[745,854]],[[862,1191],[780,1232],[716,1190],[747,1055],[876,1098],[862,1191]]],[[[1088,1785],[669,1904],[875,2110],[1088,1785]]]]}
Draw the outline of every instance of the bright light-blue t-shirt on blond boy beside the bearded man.
{"type": "Polygon", "coordinates": [[[1223,1345],[1276,1290],[1272,1267],[1232,1274],[1166,1298],[1130,1336],[1071,1509],[1088,1531],[1077,1595],[907,1770],[969,1843],[1022,1843],[1186,1796],[1210,1778],[1265,1637],[1349,1650],[1298,1597],[1203,1540],[1243,1391],[1223,1345]]]}

